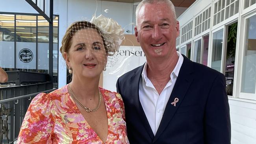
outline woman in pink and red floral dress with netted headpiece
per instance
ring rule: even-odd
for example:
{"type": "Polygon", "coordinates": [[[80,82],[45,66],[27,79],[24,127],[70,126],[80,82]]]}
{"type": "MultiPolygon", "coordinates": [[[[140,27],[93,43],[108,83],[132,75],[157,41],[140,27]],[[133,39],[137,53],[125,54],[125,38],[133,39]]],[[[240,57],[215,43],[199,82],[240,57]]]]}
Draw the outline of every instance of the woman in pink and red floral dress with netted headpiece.
{"type": "Polygon", "coordinates": [[[18,144],[129,143],[120,94],[98,87],[107,57],[118,48],[107,32],[87,21],[75,22],[68,28],[60,51],[72,81],[33,99],[18,144]]]}

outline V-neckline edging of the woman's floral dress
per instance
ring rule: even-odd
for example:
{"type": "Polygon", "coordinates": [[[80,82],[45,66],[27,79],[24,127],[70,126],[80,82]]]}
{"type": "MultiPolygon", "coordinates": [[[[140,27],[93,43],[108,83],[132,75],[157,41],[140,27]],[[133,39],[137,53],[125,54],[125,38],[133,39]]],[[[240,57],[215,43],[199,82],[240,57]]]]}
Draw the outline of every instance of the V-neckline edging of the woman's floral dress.
{"type": "Polygon", "coordinates": [[[104,104],[105,104],[105,108],[106,108],[106,112],[107,112],[107,118],[108,118],[108,134],[107,134],[107,138],[106,138],[106,142],[103,142],[102,139],[100,139],[100,137],[98,136],[98,134],[94,131],[94,129],[89,125],[89,123],[87,122],[87,120],[85,119],[85,117],[83,116],[83,114],[81,113],[81,111],[78,109],[76,103],[74,102],[73,98],[70,96],[70,93],[69,93],[69,90],[68,88],[66,87],[67,89],[67,93],[69,94],[69,98],[71,99],[71,101],[74,103],[74,105],[76,106],[76,109],[79,111],[80,113],[80,116],[82,116],[83,120],[85,121],[85,125],[89,128],[89,129],[92,129],[93,133],[95,133],[95,135],[97,136],[97,138],[102,142],[102,144],[106,144],[108,142],[108,136],[109,136],[109,111],[108,111],[108,105],[106,104],[106,96],[104,94],[104,90],[102,88],[99,87],[100,89],[100,92],[102,94],[102,97],[104,99],[104,104]]]}

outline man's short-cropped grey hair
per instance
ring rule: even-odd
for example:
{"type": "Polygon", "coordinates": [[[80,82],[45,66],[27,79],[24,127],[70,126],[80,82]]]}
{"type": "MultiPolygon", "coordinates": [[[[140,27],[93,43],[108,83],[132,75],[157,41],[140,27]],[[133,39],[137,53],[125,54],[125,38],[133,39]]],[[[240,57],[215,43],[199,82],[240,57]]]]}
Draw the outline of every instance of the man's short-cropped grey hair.
{"type": "Polygon", "coordinates": [[[170,6],[170,9],[171,11],[173,12],[173,18],[174,18],[174,21],[177,20],[176,18],[176,12],[175,12],[175,8],[174,8],[174,5],[173,5],[173,2],[171,2],[171,0],[142,0],[137,8],[136,8],[136,12],[135,12],[135,15],[136,15],[136,26],[138,25],[138,14],[139,14],[139,10],[141,9],[142,6],[144,6],[145,4],[160,4],[160,3],[165,3],[165,4],[168,4],[170,6]]]}

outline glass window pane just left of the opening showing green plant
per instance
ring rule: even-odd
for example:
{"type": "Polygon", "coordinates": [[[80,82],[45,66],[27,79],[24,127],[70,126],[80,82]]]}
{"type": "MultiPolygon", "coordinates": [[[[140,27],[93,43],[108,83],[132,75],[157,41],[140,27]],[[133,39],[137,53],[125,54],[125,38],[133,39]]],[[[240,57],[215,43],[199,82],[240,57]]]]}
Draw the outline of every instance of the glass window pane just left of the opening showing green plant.
{"type": "Polygon", "coordinates": [[[221,72],[221,56],[223,46],[223,30],[213,33],[213,52],[211,68],[221,72]]]}

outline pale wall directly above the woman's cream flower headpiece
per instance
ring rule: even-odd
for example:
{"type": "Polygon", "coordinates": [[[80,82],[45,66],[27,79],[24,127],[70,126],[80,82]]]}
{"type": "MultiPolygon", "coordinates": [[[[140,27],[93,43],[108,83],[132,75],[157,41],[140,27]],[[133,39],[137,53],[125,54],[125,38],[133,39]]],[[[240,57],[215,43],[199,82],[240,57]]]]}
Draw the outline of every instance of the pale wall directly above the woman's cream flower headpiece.
{"type": "MultiPolygon", "coordinates": [[[[95,0],[68,0],[67,23],[68,25],[78,20],[91,20],[92,15],[102,14],[116,20],[122,28],[132,30],[132,7],[133,4],[123,2],[108,2],[95,0]],[[97,6],[98,5],[98,6],[97,6]],[[97,7],[97,10],[96,10],[97,7]],[[107,13],[105,10],[107,10],[107,13]],[[129,25],[129,26],[127,26],[129,25]]],[[[126,33],[128,34],[128,33],[126,33]]]]}

